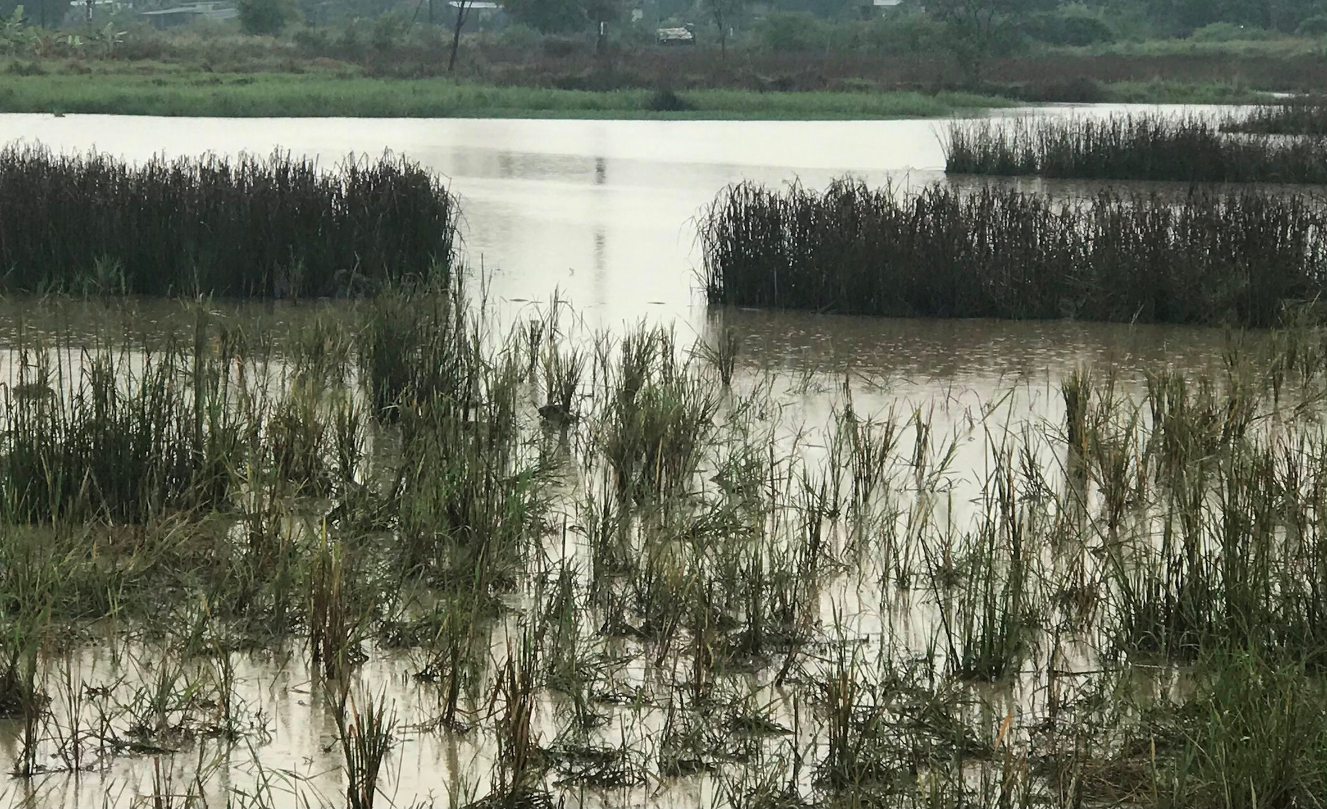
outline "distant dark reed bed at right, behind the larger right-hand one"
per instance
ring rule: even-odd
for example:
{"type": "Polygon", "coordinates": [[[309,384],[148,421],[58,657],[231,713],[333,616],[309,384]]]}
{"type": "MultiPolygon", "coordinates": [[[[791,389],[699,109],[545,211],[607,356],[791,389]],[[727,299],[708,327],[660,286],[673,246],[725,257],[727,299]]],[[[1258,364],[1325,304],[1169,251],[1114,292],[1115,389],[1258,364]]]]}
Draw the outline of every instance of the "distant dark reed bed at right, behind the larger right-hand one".
{"type": "Polygon", "coordinates": [[[1320,184],[1327,183],[1327,141],[1230,135],[1202,115],[958,121],[945,138],[945,171],[1320,184]]]}

